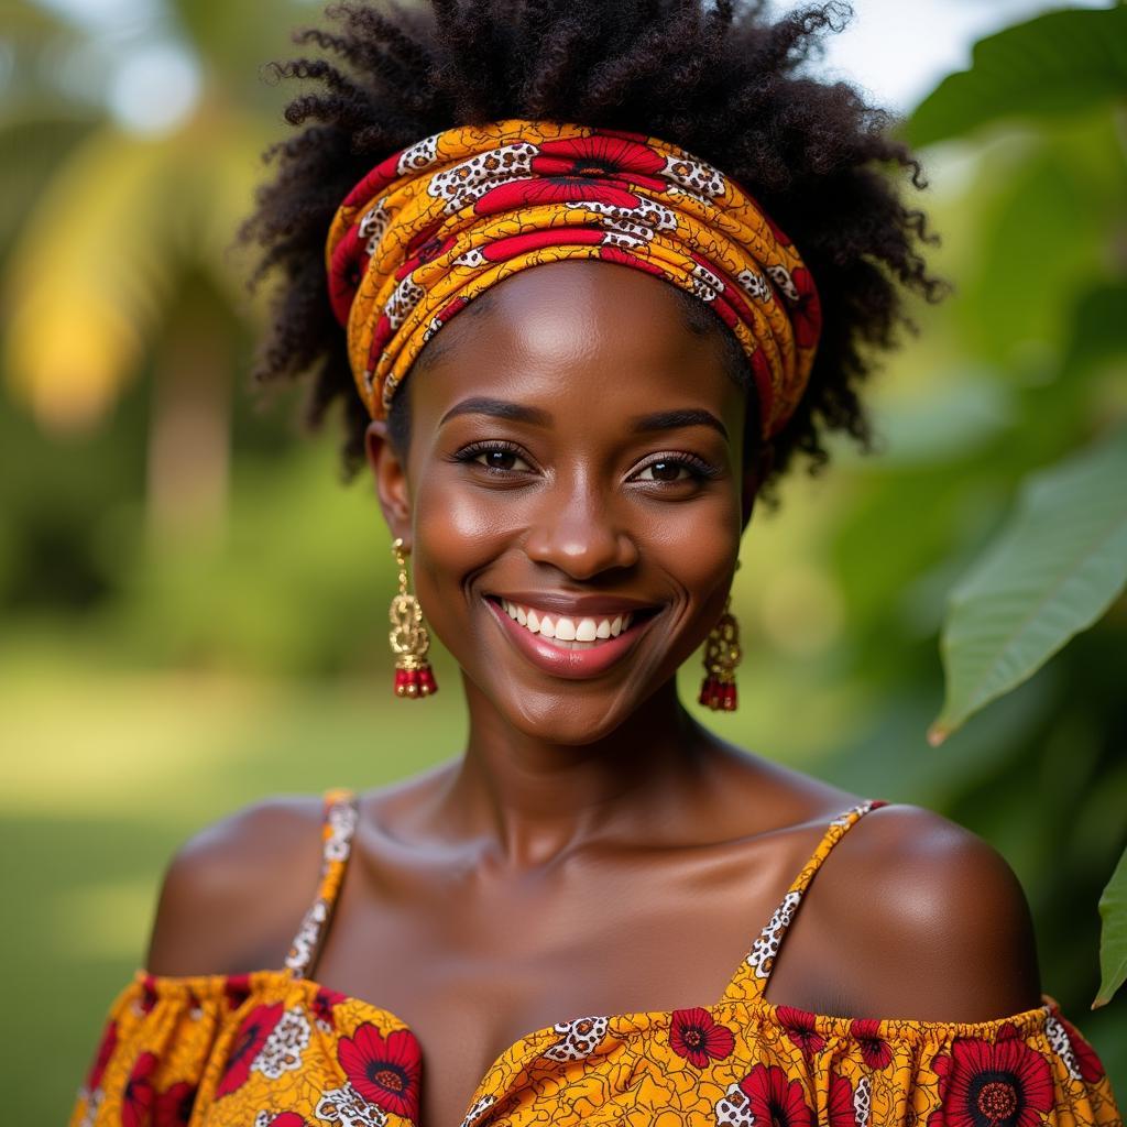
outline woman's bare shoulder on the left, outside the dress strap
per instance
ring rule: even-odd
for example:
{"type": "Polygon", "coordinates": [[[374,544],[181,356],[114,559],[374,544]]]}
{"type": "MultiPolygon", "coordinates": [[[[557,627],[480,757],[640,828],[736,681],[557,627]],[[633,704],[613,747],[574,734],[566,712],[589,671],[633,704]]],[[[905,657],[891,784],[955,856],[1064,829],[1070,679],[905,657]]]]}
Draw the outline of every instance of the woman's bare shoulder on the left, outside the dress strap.
{"type": "Polygon", "coordinates": [[[157,975],[282,966],[321,866],[320,796],[279,796],[201,831],[174,857],[147,967],[157,975]]]}

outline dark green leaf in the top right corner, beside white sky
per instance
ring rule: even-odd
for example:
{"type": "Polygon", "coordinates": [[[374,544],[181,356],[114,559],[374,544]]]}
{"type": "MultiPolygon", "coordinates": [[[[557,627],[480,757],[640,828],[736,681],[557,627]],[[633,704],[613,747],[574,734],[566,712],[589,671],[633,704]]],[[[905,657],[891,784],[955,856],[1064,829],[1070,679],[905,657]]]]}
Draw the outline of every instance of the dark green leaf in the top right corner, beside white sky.
{"type": "Polygon", "coordinates": [[[1067,114],[1127,92],[1127,7],[1048,12],[975,44],[905,124],[913,145],[1014,114],[1067,114]]]}

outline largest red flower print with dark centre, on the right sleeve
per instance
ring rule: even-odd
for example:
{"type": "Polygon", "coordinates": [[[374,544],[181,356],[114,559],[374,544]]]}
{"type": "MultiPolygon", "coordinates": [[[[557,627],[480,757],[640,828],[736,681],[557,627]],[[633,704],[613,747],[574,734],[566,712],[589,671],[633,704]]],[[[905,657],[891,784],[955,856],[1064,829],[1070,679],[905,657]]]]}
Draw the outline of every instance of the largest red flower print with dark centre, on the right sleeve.
{"type": "Polygon", "coordinates": [[[1053,1107],[1049,1062],[1006,1027],[993,1045],[956,1037],[949,1055],[935,1057],[940,1107],[928,1127],[1038,1127],[1053,1107]]]}

